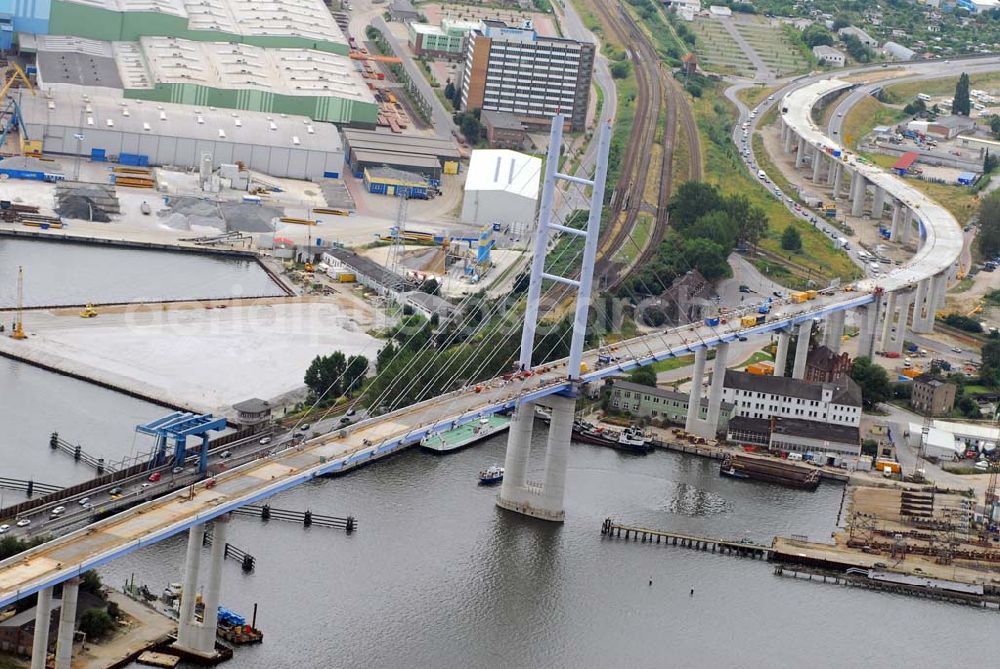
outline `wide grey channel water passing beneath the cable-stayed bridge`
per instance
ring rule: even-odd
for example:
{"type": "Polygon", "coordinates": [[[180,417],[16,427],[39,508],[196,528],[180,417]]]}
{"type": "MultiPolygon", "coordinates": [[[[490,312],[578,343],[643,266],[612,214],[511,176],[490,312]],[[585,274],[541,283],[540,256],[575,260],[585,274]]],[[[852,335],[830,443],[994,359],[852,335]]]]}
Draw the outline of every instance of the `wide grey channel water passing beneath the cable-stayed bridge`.
{"type": "MultiPolygon", "coordinates": [[[[45,472],[54,483],[89,473],[49,451],[53,427],[103,444],[98,452],[127,453],[135,422],[162,413],[7,360],[0,398],[3,475],[45,472]]],[[[544,434],[537,424],[539,457],[544,434]]],[[[265,637],[228,666],[926,667],[993,652],[995,611],[779,578],[756,560],[600,535],[612,516],[764,543],[775,534],[822,540],[836,523],[838,485],[791,490],[720,478],[716,462],[692,456],[574,444],[567,520],[552,525],[497,509],[497,488],[477,485],[480,469],[503,462],[505,443],[499,435],[445,456],[413,449],[271,500],[354,515],[349,536],[234,517],[227,540],[257,566],[244,574],[227,561],[222,603],[248,617],[258,603],[265,637]]],[[[126,556],[101,569],[104,580],[120,587],[134,576],[159,592],[181,580],[185,543],[176,536],[126,556]]]]}

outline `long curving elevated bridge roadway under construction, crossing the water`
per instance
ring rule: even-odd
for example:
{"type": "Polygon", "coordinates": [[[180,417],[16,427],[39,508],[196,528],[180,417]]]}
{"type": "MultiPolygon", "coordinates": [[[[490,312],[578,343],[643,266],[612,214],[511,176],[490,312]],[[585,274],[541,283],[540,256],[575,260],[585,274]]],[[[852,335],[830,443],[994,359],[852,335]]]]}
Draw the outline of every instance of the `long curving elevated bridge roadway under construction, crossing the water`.
{"type": "MultiPolygon", "coordinates": [[[[835,143],[813,126],[809,120],[809,109],[820,97],[842,85],[845,84],[820,82],[815,88],[805,86],[785,98],[789,107],[793,104],[797,107],[797,111],[786,114],[788,128],[807,139],[810,146],[822,155],[828,155],[824,153],[825,149],[835,147],[835,143]]],[[[905,290],[914,282],[945,271],[954,262],[961,249],[961,235],[958,224],[950,214],[877,168],[852,162],[849,156],[839,162],[845,169],[862,175],[912,208],[921,221],[925,241],[920,252],[913,261],[884,277],[880,288],[905,290]]],[[[828,319],[827,342],[831,345],[839,342],[837,324],[842,328],[843,313],[851,309],[863,309],[868,314],[863,319],[862,337],[873,339],[881,296],[881,290],[876,288],[874,282],[862,281],[852,292],[823,291],[815,299],[802,303],[774,302],[766,321],[752,327],[741,326],[740,316],[756,315],[758,305],[730,311],[726,322],[720,326],[693,323],[646,334],[617,344],[616,364],[600,369],[597,352],[590,351],[584,356],[584,362],[592,371],[584,373],[582,380],[598,381],[654,361],[694,352],[696,362],[692,394],[697,393],[700,397],[706,353],[710,348],[716,350],[716,370],[724,369],[730,342],[776,331],[787,339],[787,333],[793,326],[798,328],[800,337],[805,335],[808,338],[813,321],[819,319],[828,319]],[[873,303],[876,305],[874,309],[873,303]]],[[[779,357],[781,341],[779,339],[779,357]]],[[[801,348],[805,350],[806,347],[801,348]]],[[[805,356],[801,357],[804,367],[805,356]]],[[[796,367],[798,365],[797,356],[796,367]]],[[[456,423],[473,421],[480,415],[509,409],[523,402],[573,392],[574,384],[566,379],[565,361],[535,371],[528,378],[512,381],[494,379],[478,389],[455,391],[384,416],[369,418],[343,431],[317,437],[298,447],[286,448],[224,472],[211,481],[144,503],[0,562],[0,607],[240,506],[315,477],[345,471],[387,456],[428,433],[440,432],[456,423]]],[[[713,377],[710,415],[712,407],[717,407],[721,398],[722,376],[717,373],[713,377]]],[[[691,402],[695,407],[699,404],[691,402]]],[[[700,421],[697,415],[693,420],[692,423],[689,415],[689,427],[696,431],[710,425],[710,421],[700,421]]],[[[714,426],[711,429],[714,431],[714,426]]]]}

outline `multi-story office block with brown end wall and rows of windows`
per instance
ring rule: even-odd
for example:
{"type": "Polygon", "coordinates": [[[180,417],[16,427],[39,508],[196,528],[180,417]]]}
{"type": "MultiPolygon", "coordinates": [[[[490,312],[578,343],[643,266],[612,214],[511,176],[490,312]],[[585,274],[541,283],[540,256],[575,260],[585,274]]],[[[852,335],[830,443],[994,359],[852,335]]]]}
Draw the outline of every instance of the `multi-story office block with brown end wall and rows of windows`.
{"type": "Polygon", "coordinates": [[[510,112],[533,127],[558,112],[569,130],[583,130],[593,72],[591,43],[543,37],[530,22],[484,21],[467,41],[462,109],[510,112]]]}

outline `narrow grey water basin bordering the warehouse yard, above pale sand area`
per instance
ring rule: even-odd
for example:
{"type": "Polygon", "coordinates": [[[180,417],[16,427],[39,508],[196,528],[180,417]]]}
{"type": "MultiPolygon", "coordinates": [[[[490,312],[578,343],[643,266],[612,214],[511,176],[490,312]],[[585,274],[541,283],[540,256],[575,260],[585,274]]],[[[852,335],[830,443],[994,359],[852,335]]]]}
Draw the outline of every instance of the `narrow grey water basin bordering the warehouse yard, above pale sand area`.
{"type": "Polygon", "coordinates": [[[0,237],[0,308],[283,295],[256,261],[222,255],[122,249],[0,237]]]}

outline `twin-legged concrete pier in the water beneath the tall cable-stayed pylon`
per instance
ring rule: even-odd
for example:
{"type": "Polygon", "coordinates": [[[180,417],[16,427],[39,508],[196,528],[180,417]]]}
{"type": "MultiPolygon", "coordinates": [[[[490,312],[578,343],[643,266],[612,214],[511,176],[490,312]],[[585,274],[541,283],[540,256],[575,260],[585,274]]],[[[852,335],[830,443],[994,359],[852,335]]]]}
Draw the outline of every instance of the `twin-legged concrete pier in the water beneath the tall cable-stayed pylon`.
{"type": "Polygon", "coordinates": [[[552,412],[545,447],[544,481],[538,485],[528,483],[525,478],[535,412],[535,403],[526,402],[518,408],[511,423],[504,480],[496,503],[508,511],[561,523],[566,519],[566,465],[573,436],[576,398],[551,395],[538,403],[545,404],[552,412]]]}

